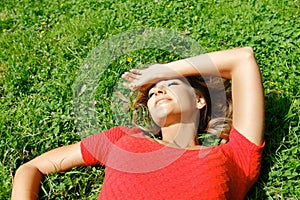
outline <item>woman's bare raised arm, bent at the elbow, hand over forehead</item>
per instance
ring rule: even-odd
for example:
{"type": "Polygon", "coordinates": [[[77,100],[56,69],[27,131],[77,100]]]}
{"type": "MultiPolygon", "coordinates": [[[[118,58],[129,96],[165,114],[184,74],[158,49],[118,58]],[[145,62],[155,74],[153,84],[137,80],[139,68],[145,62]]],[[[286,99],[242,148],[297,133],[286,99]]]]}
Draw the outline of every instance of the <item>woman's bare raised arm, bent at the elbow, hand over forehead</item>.
{"type": "Polygon", "coordinates": [[[221,75],[232,80],[233,126],[251,142],[263,141],[264,96],[261,74],[252,48],[216,51],[145,70],[133,69],[123,78],[131,89],[178,76],[221,75]]]}

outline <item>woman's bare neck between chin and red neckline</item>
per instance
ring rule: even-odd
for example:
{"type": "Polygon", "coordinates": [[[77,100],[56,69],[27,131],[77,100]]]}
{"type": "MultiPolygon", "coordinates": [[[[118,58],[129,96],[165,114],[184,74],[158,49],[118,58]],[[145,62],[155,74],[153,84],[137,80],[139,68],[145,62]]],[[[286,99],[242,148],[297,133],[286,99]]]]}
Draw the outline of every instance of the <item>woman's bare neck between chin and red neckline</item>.
{"type": "Polygon", "coordinates": [[[196,142],[196,127],[194,123],[176,123],[161,128],[163,142],[179,148],[194,147],[196,142]]]}

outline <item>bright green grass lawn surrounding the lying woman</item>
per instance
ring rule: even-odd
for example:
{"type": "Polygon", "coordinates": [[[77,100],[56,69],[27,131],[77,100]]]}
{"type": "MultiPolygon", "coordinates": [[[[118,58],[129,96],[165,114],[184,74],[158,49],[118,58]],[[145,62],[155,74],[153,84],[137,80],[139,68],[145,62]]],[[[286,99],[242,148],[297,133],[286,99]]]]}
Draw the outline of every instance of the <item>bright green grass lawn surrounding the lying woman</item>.
{"type": "MultiPolygon", "coordinates": [[[[114,35],[149,27],[177,31],[205,51],[254,48],[265,87],[266,148],[261,176],[247,199],[297,199],[299,14],[297,0],[1,1],[1,199],[9,199],[12,176],[22,163],[80,140],[73,89],[90,52],[114,35]]],[[[116,124],[107,100],[122,72],[141,63],[176,58],[146,49],[111,61],[95,92],[99,131],[116,124]]],[[[50,175],[43,182],[41,199],[95,199],[103,173],[100,167],[88,167],[50,175]]]]}

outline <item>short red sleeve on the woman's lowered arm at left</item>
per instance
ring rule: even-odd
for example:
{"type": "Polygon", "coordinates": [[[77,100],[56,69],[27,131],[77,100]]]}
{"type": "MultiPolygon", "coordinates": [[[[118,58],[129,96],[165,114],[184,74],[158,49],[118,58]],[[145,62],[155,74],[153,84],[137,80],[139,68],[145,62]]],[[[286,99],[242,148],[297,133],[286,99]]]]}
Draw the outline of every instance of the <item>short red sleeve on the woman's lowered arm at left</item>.
{"type": "Polygon", "coordinates": [[[127,129],[127,127],[116,126],[83,138],[80,142],[80,149],[84,163],[86,165],[105,165],[110,149],[125,135],[127,129]]]}

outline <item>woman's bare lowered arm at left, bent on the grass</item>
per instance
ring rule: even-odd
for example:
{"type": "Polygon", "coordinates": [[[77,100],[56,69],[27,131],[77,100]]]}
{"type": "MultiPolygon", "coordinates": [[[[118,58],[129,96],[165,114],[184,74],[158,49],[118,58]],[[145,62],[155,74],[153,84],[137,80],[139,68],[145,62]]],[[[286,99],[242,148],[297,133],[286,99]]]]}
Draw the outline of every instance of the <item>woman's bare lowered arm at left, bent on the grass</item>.
{"type": "Polygon", "coordinates": [[[46,152],[21,165],[13,179],[12,200],[37,199],[44,175],[84,165],[80,142],[46,152]]]}

